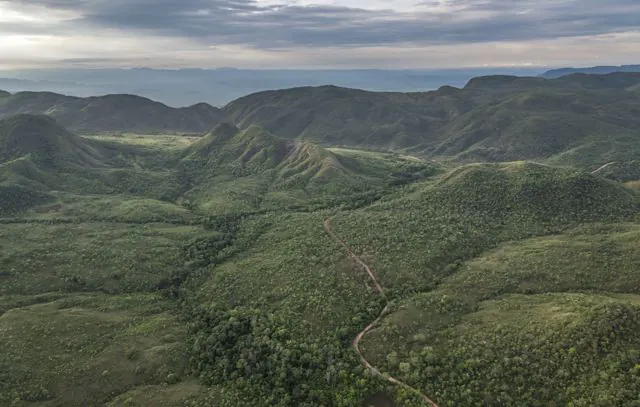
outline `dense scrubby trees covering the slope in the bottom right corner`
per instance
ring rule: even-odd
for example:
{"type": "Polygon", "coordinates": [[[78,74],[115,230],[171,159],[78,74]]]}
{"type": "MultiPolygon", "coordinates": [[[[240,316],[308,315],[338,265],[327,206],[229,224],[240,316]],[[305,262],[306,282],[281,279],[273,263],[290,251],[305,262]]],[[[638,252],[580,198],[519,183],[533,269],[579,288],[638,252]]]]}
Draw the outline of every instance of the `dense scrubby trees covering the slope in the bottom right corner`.
{"type": "Polygon", "coordinates": [[[638,307],[605,304],[581,310],[580,318],[561,330],[452,331],[400,369],[445,406],[640,406],[638,307]]]}

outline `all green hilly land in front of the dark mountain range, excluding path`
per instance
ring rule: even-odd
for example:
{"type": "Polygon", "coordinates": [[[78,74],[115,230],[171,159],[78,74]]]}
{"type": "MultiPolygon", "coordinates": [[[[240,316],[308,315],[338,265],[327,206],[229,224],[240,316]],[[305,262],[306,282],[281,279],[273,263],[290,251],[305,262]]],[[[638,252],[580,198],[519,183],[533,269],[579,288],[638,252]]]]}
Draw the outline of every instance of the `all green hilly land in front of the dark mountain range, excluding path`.
{"type": "Polygon", "coordinates": [[[423,405],[353,351],[385,304],[328,217],[390,299],[361,342],[382,371],[441,406],[635,405],[633,181],[257,127],[56,134],[64,159],[0,164],[28,203],[0,216],[0,405],[423,405]]]}

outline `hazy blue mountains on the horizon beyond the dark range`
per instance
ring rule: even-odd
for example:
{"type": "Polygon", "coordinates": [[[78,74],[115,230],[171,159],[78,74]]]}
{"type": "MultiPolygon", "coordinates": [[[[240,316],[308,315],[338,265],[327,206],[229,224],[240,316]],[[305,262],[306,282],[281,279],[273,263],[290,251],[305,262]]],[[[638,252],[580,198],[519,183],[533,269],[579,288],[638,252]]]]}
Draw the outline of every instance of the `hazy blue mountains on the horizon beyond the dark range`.
{"type": "Polygon", "coordinates": [[[73,96],[128,93],[170,106],[221,106],[250,93],[298,86],[336,85],[371,91],[412,92],[461,87],[482,75],[538,75],[533,68],[448,70],[34,69],[0,71],[0,89],[73,96]]]}

